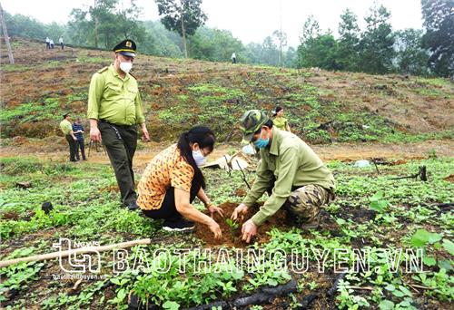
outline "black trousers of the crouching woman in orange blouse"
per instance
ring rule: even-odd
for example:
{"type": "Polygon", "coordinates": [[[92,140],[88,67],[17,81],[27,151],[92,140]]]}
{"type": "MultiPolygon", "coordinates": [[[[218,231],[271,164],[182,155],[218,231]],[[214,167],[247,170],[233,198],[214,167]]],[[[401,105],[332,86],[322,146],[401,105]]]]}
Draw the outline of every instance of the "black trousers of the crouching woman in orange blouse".
{"type": "MultiPolygon", "coordinates": [[[[200,181],[197,182],[192,179],[189,202],[192,203],[192,201],[197,197],[197,193],[199,192],[201,186],[202,186],[202,183],[200,181]]],[[[161,208],[158,208],[156,210],[142,210],[142,211],[143,211],[143,214],[148,218],[154,218],[154,219],[164,218],[164,219],[167,219],[170,221],[176,221],[176,220],[179,220],[180,218],[182,218],[182,215],[177,211],[176,206],[175,206],[175,189],[174,188],[167,189],[164,199],[163,199],[163,204],[161,205],[161,208]]]]}

